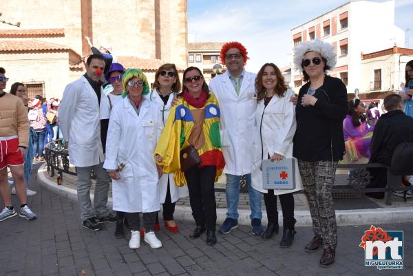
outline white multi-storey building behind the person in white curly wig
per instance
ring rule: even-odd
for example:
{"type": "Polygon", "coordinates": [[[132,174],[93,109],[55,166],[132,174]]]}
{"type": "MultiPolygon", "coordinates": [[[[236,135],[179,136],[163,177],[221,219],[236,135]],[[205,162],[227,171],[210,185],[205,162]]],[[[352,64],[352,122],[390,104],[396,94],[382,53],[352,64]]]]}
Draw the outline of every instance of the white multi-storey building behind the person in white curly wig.
{"type": "MultiPolygon", "coordinates": [[[[331,43],[337,53],[337,65],[329,74],[341,78],[348,93],[356,88],[361,93],[370,92],[369,87],[361,87],[366,79],[363,52],[403,47],[405,43],[404,31],[394,25],[394,0],[350,1],[293,28],[291,36],[293,46],[312,39],[331,43]]],[[[293,67],[291,87],[299,89],[304,84],[301,80],[301,72],[293,67]]]]}

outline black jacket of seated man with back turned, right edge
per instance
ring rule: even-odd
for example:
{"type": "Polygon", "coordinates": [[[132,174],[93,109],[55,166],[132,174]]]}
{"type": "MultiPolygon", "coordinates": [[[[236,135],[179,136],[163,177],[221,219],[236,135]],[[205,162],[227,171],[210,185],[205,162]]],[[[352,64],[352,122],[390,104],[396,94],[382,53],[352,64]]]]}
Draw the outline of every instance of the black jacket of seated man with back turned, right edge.
{"type": "Polygon", "coordinates": [[[390,166],[394,149],[402,142],[411,139],[413,139],[412,117],[401,110],[392,110],[381,115],[374,127],[369,162],[390,166]]]}

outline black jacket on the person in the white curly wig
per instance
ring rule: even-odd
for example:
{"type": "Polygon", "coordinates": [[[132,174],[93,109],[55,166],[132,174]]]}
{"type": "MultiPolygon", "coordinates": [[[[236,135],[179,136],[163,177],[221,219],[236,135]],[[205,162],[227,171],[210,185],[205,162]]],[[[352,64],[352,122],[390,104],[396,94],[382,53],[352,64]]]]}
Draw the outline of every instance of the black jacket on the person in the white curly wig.
{"type": "Polygon", "coordinates": [[[304,107],[301,98],[309,87],[310,83],[306,83],[299,89],[293,156],[305,161],[341,160],[345,151],[343,119],[348,109],[346,85],[339,78],[326,75],[314,94],[317,103],[304,107]]]}

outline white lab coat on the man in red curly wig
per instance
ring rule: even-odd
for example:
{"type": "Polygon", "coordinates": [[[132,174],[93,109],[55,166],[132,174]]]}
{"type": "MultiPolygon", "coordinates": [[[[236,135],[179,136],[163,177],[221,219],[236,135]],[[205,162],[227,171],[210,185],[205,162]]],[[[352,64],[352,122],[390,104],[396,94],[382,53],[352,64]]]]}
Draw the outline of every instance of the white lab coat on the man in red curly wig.
{"type": "Polygon", "coordinates": [[[257,94],[256,74],[244,70],[240,95],[229,79],[229,72],[215,76],[209,89],[215,94],[221,112],[221,145],[225,159],[224,173],[242,176],[252,171],[253,129],[257,94]]]}

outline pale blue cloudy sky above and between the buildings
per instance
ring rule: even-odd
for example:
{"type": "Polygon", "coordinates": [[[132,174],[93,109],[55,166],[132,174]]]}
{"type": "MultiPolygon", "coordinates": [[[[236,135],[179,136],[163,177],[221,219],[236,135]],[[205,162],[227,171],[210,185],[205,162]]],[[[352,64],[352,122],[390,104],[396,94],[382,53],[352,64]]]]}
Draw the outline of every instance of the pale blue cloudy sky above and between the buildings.
{"type": "MultiPolygon", "coordinates": [[[[373,0],[381,2],[383,0],[373,0]]],[[[290,30],[348,0],[188,0],[188,34],[193,41],[240,41],[250,60],[247,70],[257,72],[266,62],[280,67],[291,58],[290,30]]],[[[406,32],[413,48],[413,0],[395,1],[395,24],[406,32]]]]}

